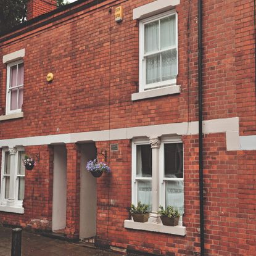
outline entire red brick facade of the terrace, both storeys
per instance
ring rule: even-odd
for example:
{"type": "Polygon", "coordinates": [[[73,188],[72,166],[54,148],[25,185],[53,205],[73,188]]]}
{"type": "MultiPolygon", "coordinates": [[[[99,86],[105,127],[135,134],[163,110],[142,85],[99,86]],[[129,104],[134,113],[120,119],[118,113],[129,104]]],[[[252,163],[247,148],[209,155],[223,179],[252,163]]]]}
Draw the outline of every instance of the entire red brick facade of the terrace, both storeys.
{"type": "MultiPolygon", "coordinates": [[[[133,20],[133,9],[149,2],[153,1],[78,1],[69,9],[35,22],[32,19],[27,27],[2,36],[1,115],[6,113],[7,74],[2,56],[25,49],[25,73],[23,118],[1,121],[0,140],[100,131],[94,142],[98,152],[107,150],[112,172],[97,179],[96,245],[154,255],[200,255],[198,134],[185,131],[181,136],[186,236],[124,228],[131,204],[132,139],[110,139],[110,135],[102,139],[114,129],[176,123],[188,123],[189,129],[189,124],[198,120],[194,0],[180,0],[175,6],[181,93],[131,101],[139,84],[139,21],[133,20]],[[116,23],[115,7],[120,5],[124,19],[116,23]],[[54,74],[51,83],[46,81],[49,72],[54,74]],[[110,151],[113,143],[118,144],[117,152],[110,151]]],[[[36,7],[39,12],[31,18],[51,8],[41,11],[36,7]]],[[[238,117],[240,136],[256,135],[254,36],[253,0],[204,1],[204,120],[238,117]]],[[[48,145],[44,144],[46,138],[40,139],[36,146],[25,146],[28,154],[40,154],[35,169],[26,171],[25,213],[0,212],[1,223],[51,230],[54,142],[48,145]]],[[[74,143],[65,139],[58,141],[67,148],[65,234],[78,238],[80,144],[92,139],[74,143]]],[[[204,134],[205,255],[253,256],[256,148],[228,151],[226,143],[223,131],[204,134]]],[[[100,154],[98,157],[104,160],[100,154]]]]}

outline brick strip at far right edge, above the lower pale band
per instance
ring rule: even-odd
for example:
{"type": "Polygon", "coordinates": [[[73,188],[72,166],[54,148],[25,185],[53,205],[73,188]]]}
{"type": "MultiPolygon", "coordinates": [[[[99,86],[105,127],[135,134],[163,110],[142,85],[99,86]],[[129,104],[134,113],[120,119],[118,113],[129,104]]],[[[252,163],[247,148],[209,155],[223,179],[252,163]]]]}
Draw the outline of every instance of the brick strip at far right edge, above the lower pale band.
{"type": "Polygon", "coordinates": [[[254,1],[234,1],[236,20],[236,101],[241,134],[255,134],[254,1]]]}

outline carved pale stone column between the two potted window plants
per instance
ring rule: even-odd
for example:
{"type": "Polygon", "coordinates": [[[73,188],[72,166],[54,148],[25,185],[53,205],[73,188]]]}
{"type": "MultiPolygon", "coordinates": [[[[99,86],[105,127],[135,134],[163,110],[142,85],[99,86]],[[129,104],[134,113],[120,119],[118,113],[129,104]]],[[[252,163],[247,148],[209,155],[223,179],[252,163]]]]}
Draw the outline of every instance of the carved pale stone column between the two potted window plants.
{"type": "Polygon", "coordinates": [[[149,143],[152,148],[152,212],[149,222],[160,223],[159,214],[159,148],[161,141],[159,138],[150,138],[149,143]]]}

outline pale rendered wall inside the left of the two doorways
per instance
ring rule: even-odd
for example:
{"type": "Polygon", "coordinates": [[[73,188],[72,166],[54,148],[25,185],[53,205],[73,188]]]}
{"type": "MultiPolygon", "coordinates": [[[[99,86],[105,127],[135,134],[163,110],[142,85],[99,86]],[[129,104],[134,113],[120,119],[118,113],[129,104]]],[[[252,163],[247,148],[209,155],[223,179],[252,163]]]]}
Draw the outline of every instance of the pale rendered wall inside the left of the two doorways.
{"type": "Polygon", "coordinates": [[[64,229],[67,210],[67,149],[54,146],[52,231],[64,229]]]}

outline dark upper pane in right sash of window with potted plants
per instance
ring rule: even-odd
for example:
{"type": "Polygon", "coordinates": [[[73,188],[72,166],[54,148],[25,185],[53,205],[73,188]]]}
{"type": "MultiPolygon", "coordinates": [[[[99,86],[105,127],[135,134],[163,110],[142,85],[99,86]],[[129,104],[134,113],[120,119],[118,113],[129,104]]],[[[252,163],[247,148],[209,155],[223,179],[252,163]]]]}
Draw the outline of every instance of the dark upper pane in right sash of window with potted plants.
{"type": "Polygon", "coordinates": [[[183,144],[165,144],[165,178],[183,178],[183,144]]]}

